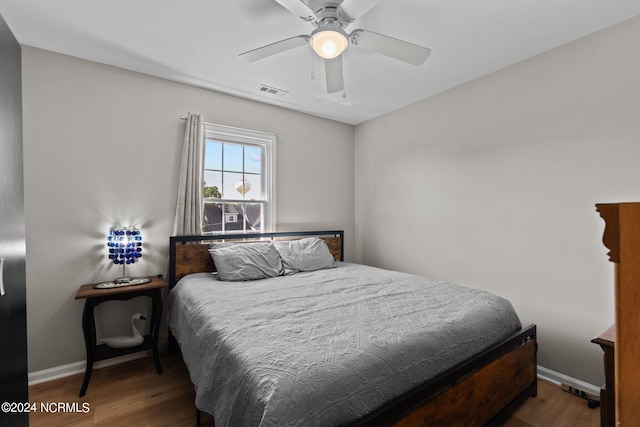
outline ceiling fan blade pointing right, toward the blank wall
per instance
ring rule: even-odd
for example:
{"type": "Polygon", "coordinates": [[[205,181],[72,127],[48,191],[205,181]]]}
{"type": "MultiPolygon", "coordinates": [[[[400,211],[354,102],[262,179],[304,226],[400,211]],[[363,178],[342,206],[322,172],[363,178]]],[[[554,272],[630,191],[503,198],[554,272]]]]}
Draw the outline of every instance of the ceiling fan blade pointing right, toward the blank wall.
{"type": "Polygon", "coordinates": [[[351,33],[350,39],[351,42],[358,47],[372,50],[414,65],[422,65],[431,54],[431,49],[429,48],[371,31],[354,30],[351,33]]]}

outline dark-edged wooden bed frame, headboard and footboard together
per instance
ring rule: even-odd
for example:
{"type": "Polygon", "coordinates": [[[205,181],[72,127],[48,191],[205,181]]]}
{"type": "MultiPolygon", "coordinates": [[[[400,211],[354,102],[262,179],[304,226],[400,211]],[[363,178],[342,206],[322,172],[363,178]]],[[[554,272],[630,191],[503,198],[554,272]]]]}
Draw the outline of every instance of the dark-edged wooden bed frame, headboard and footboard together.
{"type": "MultiPolygon", "coordinates": [[[[169,291],[187,274],[215,271],[214,241],[255,242],[316,236],[344,260],[344,232],[298,231],[171,237],[169,291]]],[[[497,426],[527,398],[537,395],[536,326],[530,325],[484,352],[379,407],[353,426],[497,426]]],[[[169,333],[169,352],[177,350],[169,333]]],[[[197,412],[197,423],[200,412],[197,412]]]]}

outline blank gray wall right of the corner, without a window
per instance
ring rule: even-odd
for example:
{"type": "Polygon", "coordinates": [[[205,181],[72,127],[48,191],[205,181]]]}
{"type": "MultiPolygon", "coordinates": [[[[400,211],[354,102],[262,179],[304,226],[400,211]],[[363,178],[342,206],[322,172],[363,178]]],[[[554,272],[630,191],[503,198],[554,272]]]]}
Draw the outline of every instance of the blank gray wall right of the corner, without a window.
{"type": "Polygon", "coordinates": [[[594,385],[598,202],[640,200],[640,18],[356,127],[356,259],[493,291],[594,385]],[[375,231],[374,231],[375,230],[375,231]]]}

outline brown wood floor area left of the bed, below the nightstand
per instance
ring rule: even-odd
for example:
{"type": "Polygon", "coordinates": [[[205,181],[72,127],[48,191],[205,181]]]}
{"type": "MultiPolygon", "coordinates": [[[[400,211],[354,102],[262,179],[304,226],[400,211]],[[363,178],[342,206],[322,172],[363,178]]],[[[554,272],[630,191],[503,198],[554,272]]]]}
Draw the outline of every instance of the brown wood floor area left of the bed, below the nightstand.
{"type": "Polygon", "coordinates": [[[82,374],[32,386],[30,401],[89,404],[88,413],[30,414],[38,426],[193,426],[195,394],[179,355],[163,358],[158,375],[152,358],[94,370],[89,389],[78,398],[82,374]]]}

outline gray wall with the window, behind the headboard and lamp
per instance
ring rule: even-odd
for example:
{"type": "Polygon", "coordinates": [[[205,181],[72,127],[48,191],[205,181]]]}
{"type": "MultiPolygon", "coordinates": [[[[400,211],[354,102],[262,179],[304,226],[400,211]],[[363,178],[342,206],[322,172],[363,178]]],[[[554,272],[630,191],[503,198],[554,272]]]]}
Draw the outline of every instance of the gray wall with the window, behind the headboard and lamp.
{"type": "MultiPolygon", "coordinates": [[[[30,372],[86,358],[74,296],[121,272],[116,222],[145,239],[128,274],[165,271],[187,112],[279,134],[278,229],[344,229],[353,257],[353,126],[29,47],[23,83],[30,372]]],[[[98,337],[130,332],[133,310],[148,302],[99,306],[98,337]]]]}

